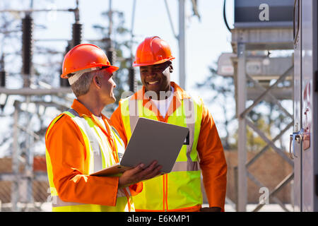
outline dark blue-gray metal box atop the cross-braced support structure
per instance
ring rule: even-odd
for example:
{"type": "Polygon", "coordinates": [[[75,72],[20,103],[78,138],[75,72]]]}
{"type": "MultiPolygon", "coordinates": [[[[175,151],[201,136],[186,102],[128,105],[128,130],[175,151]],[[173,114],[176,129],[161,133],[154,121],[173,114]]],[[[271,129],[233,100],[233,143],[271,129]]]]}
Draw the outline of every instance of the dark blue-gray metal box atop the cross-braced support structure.
{"type": "Polygon", "coordinates": [[[235,28],[291,28],[294,0],[235,0],[235,28]]]}

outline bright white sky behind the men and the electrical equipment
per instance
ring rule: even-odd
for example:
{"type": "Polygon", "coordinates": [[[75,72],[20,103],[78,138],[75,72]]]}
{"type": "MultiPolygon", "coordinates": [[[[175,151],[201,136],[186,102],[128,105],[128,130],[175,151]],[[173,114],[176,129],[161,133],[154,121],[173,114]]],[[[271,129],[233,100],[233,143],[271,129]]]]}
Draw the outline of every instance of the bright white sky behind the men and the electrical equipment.
{"type": "MultiPolygon", "coordinates": [[[[206,90],[197,90],[195,84],[204,81],[209,75],[208,67],[212,66],[218,60],[223,52],[232,52],[230,44],[231,34],[225,27],[223,21],[223,0],[198,0],[198,11],[201,20],[193,16],[192,1],[185,1],[186,14],[186,87],[185,90],[190,95],[199,95],[205,102],[208,102],[210,92],[206,90]]],[[[226,5],[226,13],[228,23],[232,27],[233,22],[233,2],[228,0],[226,5]]],[[[30,8],[31,0],[11,0],[1,1],[0,9],[16,9],[25,10],[30,8]]],[[[109,20],[101,15],[102,12],[109,10],[109,0],[79,0],[80,23],[83,23],[83,42],[100,39],[100,33],[97,32],[93,25],[107,26],[109,20]]],[[[132,28],[131,18],[133,15],[134,0],[112,0],[112,10],[122,11],[124,13],[124,27],[129,30],[132,28]]],[[[178,0],[167,0],[170,16],[172,18],[175,33],[178,34],[178,0]]],[[[33,0],[33,8],[35,9],[68,9],[75,8],[75,0],[33,0]]],[[[20,25],[20,19],[24,17],[23,13],[16,13],[17,25],[20,25]]],[[[59,52],[64,52],[66,40],[71,39],[71,25],[74,23],[74,15],[70,12],[51,11],[51,12],[35,12],[33,13],[35,28],[33,38],[35,46],[54,47],[59,52]],[[39,40],[57,39],[60,41],[42,42],[39,40]]],[[[114,19],[115,20],[115,19],[114,19]]],[[[117,21],[114,21],[117,23],[117,21]]],[[[175,57],[173,61],[174,72],[171,80],[179,83],[179,48],[178,42],[172,32],[170,21],[165,7],[165,0],[136,0],[136,10],[133,23],[134,41],[133,52],[145,37],[157,35],[170,44],[172,54],[175,57]]],[[[115,37],[116,38],[116,37],[115,37]]],[[[20,50],[20,40],[16,44],[2,44],[1,48],[6,52],[18,52],[20,50]]],[[[129,52],[126,54],[130,54],[129,52]]],[[[126,56],[128,57],[128,55],[126,56]]],[[[35,65],[47,64],[51,61],[59,62],[62,60],[61,54],[54,54],[50,59],[47,57],[36,57],[33,59],[35,65]]],[[[61,62],[60,62],[61,64],[61,62]]],[[[60,65],[58,64],[58,65],[60,65]]],[[[6,71],[20,73],[21,60],[16,57],[6,57],[6,71]],[[12,62],[16,63],[10,66],[12,62]]],[[[47,76],[52,76],[52,71],[42,71],[47,76]]],[[[58,75],[56,75],[58,76],[58,75]]],[[[139,74],[136,74],[139,79],[139,74]]],[[[8,85],[11,88],[18,88],[21,84],[8,79],[8,85]]],[[[56,80],[53,86],[59,86],[59,80],[56,80]]],[[[213,117],[218,120],[222,117],[217,107],[208,106],[213,117]]],[[[234,107],[234,106],[233,106],[234,107]]],[[[234,109],[234,108],[233,108],[234,109]]]]}

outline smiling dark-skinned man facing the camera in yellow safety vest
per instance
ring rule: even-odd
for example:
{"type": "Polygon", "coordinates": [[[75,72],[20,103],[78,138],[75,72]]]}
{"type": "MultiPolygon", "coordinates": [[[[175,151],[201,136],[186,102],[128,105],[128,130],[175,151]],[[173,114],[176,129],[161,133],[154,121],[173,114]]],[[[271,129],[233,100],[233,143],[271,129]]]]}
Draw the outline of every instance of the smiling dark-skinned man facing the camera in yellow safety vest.
{"type": "Polygon", "coordinates": [[[216,124],[201,99],[170,81],[172,59],[167,42],[146,37],[133,64],[140,67],[143,88],[120,100],[111,117],[125,145],[139,117],[189,128],[172,172],[143,182],[134,196],[136,211],[224,211],[227,165],[216,124]],[[208,208],[201,206],[201,174],[208,208]]]}

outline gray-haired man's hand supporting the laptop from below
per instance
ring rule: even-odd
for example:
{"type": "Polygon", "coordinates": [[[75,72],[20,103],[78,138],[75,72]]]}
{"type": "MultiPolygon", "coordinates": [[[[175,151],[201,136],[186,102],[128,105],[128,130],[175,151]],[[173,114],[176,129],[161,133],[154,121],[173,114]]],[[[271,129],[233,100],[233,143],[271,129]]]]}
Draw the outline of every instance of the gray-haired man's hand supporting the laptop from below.
{"type": "Polygon", "coordinates": [[[140,164],[132,169],[126,170],[121,177],[119,177],[119,188],[136,184],[145,179],[151,179],[160,174],[161,165],[157,165],[157,161],[153,161],[150,166],[143,169],[145,165],[140,164]]]}

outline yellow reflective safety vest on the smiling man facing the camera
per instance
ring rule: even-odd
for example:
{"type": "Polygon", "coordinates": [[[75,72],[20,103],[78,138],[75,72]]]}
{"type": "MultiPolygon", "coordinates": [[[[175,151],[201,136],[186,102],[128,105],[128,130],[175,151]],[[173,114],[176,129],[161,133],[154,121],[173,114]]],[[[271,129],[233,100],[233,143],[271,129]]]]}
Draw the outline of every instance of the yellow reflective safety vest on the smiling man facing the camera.
{"type": "MultiPolygon", "coordinates": [[[[172,172],[143,182],[143,191],[134,196],[136,210],[171,211],[200,206],[201,170],[196,150],[201,129],[201,100],[180,100],[181,105],[170,113],[167,123],[189,128],[189,144],[183,145],[172,172]]],[[[120,100],[123,127],[127,141],[131,138],[139,117],[158,120],[143,100],[131,97],[120,100]]],[[[148,102],[149,103],[149,102],[148,102]]],[[[174,104],[173,101],[170,105],[174,104]]]]}

